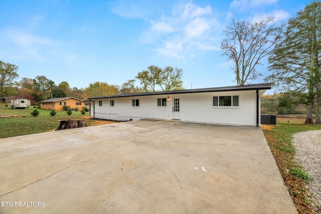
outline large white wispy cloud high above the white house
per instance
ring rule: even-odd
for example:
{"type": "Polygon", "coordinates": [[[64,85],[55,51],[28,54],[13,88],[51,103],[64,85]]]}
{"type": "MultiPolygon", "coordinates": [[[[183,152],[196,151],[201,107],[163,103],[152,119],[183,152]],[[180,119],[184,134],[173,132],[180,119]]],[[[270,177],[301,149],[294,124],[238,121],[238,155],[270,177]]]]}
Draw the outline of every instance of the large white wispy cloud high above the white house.
{"type": "Polygon", "coordinates": [[[198,51],[219,49],[212,38],[221,31],[215,31],[219,22],[210,6],[179,5],[171,15],[150,23],[151,28],[142,36],[142,42],[155,46],[153,49],[160,55],[186,61],[198,51]]]}

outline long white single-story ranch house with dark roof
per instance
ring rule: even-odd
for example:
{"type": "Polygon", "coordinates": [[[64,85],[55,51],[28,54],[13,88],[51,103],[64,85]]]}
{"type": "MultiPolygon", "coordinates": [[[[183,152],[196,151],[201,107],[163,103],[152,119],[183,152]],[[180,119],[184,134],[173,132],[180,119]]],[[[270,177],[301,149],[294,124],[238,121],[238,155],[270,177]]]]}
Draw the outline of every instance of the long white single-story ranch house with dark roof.
{"type": "Polygon", "coordinates": [[[92,97],[90,115],[110,120],[146,118],[260,126],[260,97],[269,83],[92,97]]]}

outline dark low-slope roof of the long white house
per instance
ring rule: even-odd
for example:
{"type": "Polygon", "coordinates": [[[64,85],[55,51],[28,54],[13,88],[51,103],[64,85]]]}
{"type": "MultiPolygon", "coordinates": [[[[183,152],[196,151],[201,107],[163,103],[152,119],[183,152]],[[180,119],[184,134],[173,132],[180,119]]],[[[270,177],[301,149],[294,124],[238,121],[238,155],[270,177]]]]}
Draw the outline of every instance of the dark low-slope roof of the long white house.
{"type": "Polygon", "coordinates": [[[115,95],[102,96],[102,97],[90,97],[88,99],[134,97],[134,96],[147,96],[147,95],[158,95],[158,94],[184,94],[184,93],[248,91],[248,90],[267,90],[267,89],[271,89],[270,83],[251,84],[251,85],[243,85],[243,86],[216,87],[216,88],[185,89],[185,90],[177,90],[177,91],[156,91],[156,92],[144,92],[144,93],[133,93],[133,94],[115,94],[115,95]]]}

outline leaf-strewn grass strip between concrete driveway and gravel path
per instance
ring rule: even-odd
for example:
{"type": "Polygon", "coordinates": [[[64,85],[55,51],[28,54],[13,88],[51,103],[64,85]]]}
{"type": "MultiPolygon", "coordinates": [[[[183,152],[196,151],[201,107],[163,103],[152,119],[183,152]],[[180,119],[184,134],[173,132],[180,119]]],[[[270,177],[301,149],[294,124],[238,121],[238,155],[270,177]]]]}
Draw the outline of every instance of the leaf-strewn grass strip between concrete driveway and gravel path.
{"type": "Polygon", "coordinates": [[[298,213],[315,213],[311,205],[311,196],[305,188],[310,179],[302,167],[293,160],[295,147],[292,140],[296,133],[321,130],[321,125],[277,123],[276,126],[262,125],[262,130],[298,213]]]}

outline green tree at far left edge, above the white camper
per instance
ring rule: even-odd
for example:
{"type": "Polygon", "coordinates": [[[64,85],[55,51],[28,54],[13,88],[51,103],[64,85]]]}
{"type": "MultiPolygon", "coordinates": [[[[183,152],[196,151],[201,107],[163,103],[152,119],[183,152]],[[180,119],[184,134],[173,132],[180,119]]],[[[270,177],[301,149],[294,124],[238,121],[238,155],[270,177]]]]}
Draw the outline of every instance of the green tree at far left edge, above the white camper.
{"type": "Polygon", "coordinates": [[[19,67],[0,61],[0,95],[4,95],[5,86],[13,86],[13,81],[19,77],[19,67]]]}

